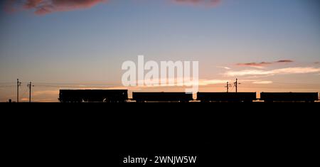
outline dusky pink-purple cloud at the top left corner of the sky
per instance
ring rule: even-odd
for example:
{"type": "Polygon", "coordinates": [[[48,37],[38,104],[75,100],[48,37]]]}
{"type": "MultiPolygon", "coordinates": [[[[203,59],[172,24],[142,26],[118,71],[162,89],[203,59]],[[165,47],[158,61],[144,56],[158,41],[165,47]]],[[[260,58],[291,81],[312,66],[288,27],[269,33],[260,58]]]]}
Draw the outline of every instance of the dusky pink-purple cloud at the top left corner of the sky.
{"type": "Polygon", "coordinates": [[[16,8],[33,10],[37,15],[50,14],[57,11],[73,11],[88,9],[108,0],[10,0],[8,11],[16,8]]]}

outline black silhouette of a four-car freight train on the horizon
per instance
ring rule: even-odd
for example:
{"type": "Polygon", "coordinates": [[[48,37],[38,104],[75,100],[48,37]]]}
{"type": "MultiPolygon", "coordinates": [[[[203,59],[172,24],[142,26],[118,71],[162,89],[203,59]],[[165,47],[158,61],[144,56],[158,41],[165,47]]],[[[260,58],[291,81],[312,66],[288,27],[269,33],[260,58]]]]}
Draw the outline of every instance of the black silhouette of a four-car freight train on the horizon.
{"type": "Polygon", "coordinates": [[[198,92],[197,98],[186,92],[132,92],[128,90],[60,90],[60,102],[315,102],[318,92],[198,92]]]}

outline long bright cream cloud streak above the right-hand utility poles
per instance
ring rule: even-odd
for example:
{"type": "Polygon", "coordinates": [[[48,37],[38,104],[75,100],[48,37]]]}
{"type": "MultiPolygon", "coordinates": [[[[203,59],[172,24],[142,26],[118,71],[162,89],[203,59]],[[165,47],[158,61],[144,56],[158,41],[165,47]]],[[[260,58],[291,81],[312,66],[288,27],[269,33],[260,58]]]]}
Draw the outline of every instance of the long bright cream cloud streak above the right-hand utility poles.
{"type": "Polygon", "coordinates": [[[306,74],[320,72],[320,68],[280,68],[275,70],[239,70],[239,71],[227,71],[225,75],[234,76],[246,76],[246,75],[276,75],[276,74],[306,74]]]}

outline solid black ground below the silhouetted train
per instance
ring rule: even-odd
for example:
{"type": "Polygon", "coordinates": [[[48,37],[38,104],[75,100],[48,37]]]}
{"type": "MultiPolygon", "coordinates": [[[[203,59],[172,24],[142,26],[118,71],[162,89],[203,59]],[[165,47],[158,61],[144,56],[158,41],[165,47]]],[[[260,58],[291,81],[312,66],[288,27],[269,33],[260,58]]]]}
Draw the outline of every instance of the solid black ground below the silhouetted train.
{"type": "Polygon", "coordinates": [[[11,166],[118,166],[128,155],[197,156],[198,166],[307,165],[319,148],[319,103],[1,106],[11,166]]]}

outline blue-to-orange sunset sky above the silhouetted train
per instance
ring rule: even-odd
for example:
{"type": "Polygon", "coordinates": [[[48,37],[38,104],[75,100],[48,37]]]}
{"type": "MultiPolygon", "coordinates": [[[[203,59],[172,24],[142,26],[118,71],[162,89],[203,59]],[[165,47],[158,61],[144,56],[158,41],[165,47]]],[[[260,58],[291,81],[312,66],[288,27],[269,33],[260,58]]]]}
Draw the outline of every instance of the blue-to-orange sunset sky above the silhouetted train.
{"type": "Polygon", "coordinates": [[[238,78],[240,92],[320,92],[317,0],[8,0],[0,7],[0,102],[16,100],[17,78],[21,101],[28,82],[36,102],[58,101],[59,89],[119,88],[122,63],[137,55],[199,61],[201,91],[225,91],[238,78]]]}

